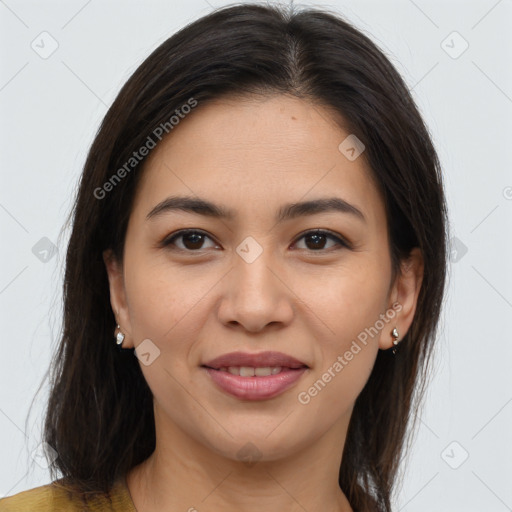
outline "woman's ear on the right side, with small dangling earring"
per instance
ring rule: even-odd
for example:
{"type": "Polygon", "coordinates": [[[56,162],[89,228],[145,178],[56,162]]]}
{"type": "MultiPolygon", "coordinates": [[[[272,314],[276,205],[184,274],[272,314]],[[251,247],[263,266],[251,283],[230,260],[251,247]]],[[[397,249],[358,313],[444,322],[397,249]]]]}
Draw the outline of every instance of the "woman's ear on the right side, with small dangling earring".
{"type": "Polygon", "coordinates": [[[423,281],[423,255],[418,247],[411,250],[407,259],[400,263],[400,271],[396,276],[389,297],[392,299],[389,309],[396,312],[380,333],[379,348],[387,350],[393,347],[391,331],[396,327],[399,338],[402,340],[407,334],[416,312],[418,296],[423,281]]]}

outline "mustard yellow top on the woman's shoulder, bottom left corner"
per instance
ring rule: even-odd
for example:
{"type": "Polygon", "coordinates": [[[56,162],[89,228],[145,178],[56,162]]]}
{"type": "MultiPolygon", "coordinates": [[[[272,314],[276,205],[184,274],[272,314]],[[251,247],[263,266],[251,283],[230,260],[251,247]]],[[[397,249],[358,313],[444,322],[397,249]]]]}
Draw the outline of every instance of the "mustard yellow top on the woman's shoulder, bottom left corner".
{"type": "Polygon", "coordinates": [[[0,512],[137,512],[124,478],[115,482],[110,498],[95,497],[85,505],[57,480],[1,499],[0,512]]]}

